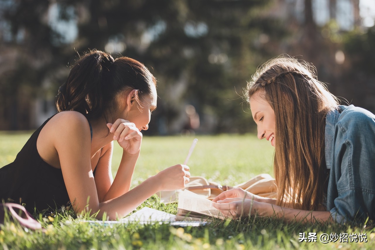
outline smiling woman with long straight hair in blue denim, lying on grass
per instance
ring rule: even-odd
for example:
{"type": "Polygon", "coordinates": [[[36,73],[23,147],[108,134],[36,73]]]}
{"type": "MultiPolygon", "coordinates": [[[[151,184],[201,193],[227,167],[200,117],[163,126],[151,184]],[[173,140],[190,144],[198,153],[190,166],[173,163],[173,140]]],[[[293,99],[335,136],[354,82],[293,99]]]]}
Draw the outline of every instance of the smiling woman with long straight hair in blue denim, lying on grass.
{"type": "Polygon", "coordinates": [[[277,198],[242,189],[221,193],[226,216],[287,221],[375,220],[375,115],[339,106],[315,69],[294,58],[268,61],[247,88],[258,138],[275,147],[277,198]]]}

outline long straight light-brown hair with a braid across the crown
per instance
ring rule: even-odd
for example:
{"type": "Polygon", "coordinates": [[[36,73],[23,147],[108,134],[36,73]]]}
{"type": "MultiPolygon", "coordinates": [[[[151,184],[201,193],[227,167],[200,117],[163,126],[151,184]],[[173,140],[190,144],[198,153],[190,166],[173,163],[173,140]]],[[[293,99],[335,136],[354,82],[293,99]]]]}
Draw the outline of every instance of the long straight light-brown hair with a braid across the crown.
{"type": "Polygon", "coordinates": [[[277,204],[317,210],[324,194],[325,117],[338,99],[311,64],[290,57],[273,58],[257,70],[247,85],[248,101],[258,91],[275,111],[277,204]]]}

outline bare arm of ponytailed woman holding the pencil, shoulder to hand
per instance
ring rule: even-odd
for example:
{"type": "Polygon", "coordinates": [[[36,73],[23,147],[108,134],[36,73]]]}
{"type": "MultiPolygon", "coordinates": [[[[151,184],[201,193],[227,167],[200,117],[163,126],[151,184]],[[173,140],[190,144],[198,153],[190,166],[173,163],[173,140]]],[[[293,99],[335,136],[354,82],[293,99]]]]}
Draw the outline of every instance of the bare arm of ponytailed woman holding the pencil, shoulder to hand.
{"type": "MultiPolygon", "coordinates": [[[[55,137],[54,147],[58,152],[65,186],[76,213],[98,213],[97,217],[101,218],[105,212],[108,218],[113,220],[127,215],[154,193],[160,190],[181,189],[189,181],[189,168],[175,165],[148,178],[129,192],[99,202],[90,163],[89,124],[86,118],[77,112],[69,113],[67,116],[69,117],[60,119],[57,124],[60,133],[55,137]]],[[[130,185],[130,181],[126,185],[130,185]]],[[[115,192],[110,193],[109,190],[108,193],[106,196],[115,196],[115,192]]]]}

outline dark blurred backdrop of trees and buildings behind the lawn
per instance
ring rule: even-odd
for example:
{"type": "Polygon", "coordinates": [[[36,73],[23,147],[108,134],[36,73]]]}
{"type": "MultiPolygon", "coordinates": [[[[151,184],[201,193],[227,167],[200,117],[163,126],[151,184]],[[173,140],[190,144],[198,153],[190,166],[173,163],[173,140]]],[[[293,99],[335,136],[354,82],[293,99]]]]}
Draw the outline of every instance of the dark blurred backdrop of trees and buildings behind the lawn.
{"type": "Polygon", "coordinates": [[[55,114],[58,87],[93,48],[157,78],[150,135],[253,131],[243,88],[280,54],[313,63],[333,94],[375,112],[374,19],[374,0],[0,0],[0,129],[55,114]],[[199,126],[186,127],[186,107],[199,126]]]}

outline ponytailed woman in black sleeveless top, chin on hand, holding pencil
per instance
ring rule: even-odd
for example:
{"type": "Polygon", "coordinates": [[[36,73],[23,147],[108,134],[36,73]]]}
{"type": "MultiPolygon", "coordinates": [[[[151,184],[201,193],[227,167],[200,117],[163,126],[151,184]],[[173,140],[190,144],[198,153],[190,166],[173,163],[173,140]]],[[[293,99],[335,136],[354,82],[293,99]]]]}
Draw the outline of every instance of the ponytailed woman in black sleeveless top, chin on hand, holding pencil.
{"type": "Polygon", "coordinates": [[[58,113],[0,168],[0,200],[28,211],[65,206],[76,213],[124,217],[160,190],[184,188],[189,167],[171,166],[130,189],[142,133],[156,109],[156,80],[138,61],[93,50],[72,67],[58,92],[58,113]],[[113,180],[113,141],[123,155],[113,180]]]}

